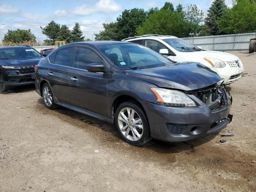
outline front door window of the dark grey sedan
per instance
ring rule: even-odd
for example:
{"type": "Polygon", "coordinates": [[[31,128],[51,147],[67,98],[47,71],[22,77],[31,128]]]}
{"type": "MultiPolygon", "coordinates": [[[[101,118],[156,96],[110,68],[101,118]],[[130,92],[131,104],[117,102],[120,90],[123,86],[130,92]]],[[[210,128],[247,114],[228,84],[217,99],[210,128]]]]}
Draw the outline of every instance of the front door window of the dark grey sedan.
{"type": "Polygon", "coordinates": [[[90,63],[103,63],[103,59],[89,48],[77,47],[74,67],[86,70],[86,66],[90,63]]]}

